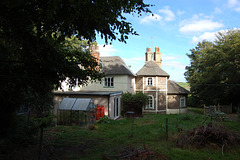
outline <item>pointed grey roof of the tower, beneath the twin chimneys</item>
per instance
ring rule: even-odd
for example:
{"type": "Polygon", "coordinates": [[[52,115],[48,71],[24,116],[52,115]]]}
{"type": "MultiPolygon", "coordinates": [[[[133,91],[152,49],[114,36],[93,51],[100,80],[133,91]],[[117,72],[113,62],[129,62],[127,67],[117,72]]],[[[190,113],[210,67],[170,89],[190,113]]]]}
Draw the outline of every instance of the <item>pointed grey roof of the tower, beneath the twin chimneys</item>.
{"type": "Polygon", "coordinates": [[[137,72],[137,75],[169,77],[169,74],[161,69],[154,61],[146,62],[146,64],[137,72]]]}

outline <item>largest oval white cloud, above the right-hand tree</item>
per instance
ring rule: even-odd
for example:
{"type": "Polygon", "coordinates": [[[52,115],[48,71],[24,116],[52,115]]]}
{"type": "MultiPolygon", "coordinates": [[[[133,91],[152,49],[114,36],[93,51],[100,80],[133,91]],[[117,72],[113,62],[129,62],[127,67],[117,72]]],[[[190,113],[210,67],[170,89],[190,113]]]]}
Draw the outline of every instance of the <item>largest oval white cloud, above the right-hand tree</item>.
{"type": "Polygon", "coordinates": [[[194,32],[205,32],[205,31],[213,31],[223,27],[224,25],[219,22],[213,22],[210,19],[202,19],[196,20],[194,18],[190,21],[186,21],[185,23],[181,22],[179,31],[182,33],[194,33],[194,32]],[[181,26],[182,25],[182,26],[181,26]]]}

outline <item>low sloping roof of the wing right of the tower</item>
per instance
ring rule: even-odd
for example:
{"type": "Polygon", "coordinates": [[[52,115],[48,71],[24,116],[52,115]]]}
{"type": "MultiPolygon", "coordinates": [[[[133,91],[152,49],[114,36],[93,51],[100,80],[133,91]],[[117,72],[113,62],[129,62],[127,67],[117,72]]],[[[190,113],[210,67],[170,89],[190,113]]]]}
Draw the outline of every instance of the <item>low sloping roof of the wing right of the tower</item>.
{"type": "Polygon", "coordinates": [[[168,94],[188,94],[189,91],[179,86],[176,82],[168,80],[168,94]]]}

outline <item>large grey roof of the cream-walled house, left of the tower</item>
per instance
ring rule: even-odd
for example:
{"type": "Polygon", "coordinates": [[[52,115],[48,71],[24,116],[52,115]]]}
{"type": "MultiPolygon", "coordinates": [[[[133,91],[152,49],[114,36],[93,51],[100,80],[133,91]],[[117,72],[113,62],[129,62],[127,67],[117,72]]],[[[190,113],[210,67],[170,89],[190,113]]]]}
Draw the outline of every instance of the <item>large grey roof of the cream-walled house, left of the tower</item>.
{"type": "Polygon", "coordinates": [[[131,75],[135,74],[128,68],[125,62],[119,56],[100,57],[102,71],[105,75],[131,75]]]}

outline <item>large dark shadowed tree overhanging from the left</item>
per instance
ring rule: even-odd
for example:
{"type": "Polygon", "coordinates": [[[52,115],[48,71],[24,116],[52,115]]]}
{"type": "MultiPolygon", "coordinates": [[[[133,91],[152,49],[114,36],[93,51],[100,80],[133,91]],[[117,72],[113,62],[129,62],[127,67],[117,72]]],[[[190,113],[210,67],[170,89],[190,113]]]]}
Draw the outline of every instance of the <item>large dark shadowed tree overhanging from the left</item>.
{"type": "Polygon", "coordinates": [[[66,45],[66,38],[94,41],[100,34],[106,43],[126,42],[137,33],[124,15],[150,12],[148,7],[143,0],[1,0],[0,121],[5,128],[22,105],[48,107],[53,86],[66,77],[83,84],[101,78],[95,59],[66,45]]]}

